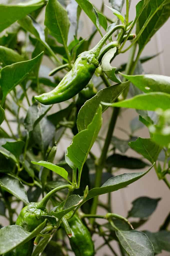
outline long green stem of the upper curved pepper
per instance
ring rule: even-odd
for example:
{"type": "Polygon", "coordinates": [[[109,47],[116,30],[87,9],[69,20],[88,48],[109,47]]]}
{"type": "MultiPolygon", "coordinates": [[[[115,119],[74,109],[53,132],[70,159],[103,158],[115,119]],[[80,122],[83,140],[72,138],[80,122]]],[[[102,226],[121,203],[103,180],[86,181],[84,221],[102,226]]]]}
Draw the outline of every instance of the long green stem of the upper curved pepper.
{"type": "Polygon", "coordinates": [[[117,29],[125,29],[125,25],[116,25],[114,28],[112,28],[108,33],[106,33],[103,38],[98,42],[98,44],[90,50],[90,52],[93,52],[96,57],[98,57],[101,48],[105,44],[105,42],[108,40],[108,38],[117,30],[117,29]]]}

